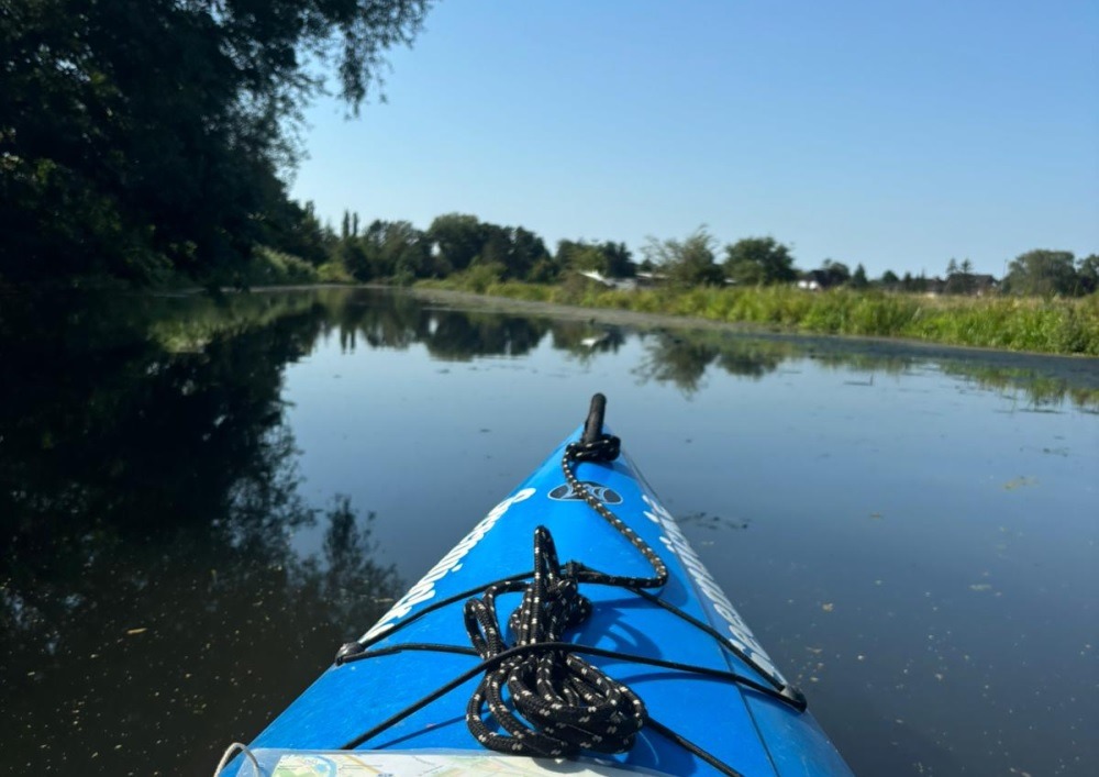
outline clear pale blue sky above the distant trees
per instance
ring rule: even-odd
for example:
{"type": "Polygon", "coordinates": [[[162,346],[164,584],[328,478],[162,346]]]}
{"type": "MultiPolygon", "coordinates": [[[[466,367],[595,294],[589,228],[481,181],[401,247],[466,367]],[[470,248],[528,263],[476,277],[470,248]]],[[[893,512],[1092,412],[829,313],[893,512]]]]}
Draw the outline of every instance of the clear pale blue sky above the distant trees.
{"type": "Polygon", "coordinates": [[[706,224],[872,276],[1099,253],[1096,0],[447,0],[391,62],[388,103],[307,113],[292,193],[333,224],[706,224]]]}

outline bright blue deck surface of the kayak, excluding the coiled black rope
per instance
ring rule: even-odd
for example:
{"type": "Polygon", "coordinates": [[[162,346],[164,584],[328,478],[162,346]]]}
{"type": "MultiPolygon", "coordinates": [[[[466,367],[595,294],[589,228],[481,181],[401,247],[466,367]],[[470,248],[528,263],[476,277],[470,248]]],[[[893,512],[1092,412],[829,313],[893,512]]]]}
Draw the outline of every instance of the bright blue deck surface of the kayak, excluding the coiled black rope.
{"type": "MultiPolygon", "coordinates": [[[[440,602],[479,591],[501,578],[529,575],[532,536],[537,526],[552,534],[562,562],[576,560],[615,576],[653,575],[653,565],[639,547],[601,519],[563,473],[560,460],[566,445],[581,434],[578,430],[566,440],[493,508],[346,653],[349,661],[322,674],[255,740],[252,748],[270,748],[279,757],[289,751],[336,751],[346,746],[356,748],[355,757],[368,754],[380,758],[396,755],[397,751],[442,751],[451,755],[464,752],[463,757],[490,763],[485,759],[493,754],[479,750],[466,720],[468,700],[477,691],[482,674],[462,679],[481,663],[478,655],[468,654],[470,641],[464,619],[467,597],[457,597],[442,607],[440,602]],[[437,609],[418,618],[418,613],[433,607],[437,609]],[[412,650],[409,645],[446,645],[455,651],[412,650]],[[362,658],[364,650],[370,657],[362,658]],[[448,681],[454,687],[441,692],[448,681]],[[410,711],[418,702],[432,698],[410,711]]],[[[560,639],[596,651],[598,654],[582,658],[635,692],[647,715],[646,725],[629,751],[586,755],[598,758],[606,768],[631,769],[635,774],[720,773],[713,763],[733,769],[726,774],[850,774],[632,462],[623,455],[613,462],[573,466],[576,478],[585,484],[581,490],[595,495],[643,544],[652,547],[668,573],[667,582],[650,597],[615,586],[580,584],[582,595],[591,602],[590,615],[560,639]],[[656,597],[681,614],[654,606],[651,599],[656,597]],[[718,637],[723,637],[724,644],[718,637]],[[745,681],[733,681],[731,675],[745,681]],[[673,741],[668,732],[675,732],[704,756],[673,741]]],[[[521,600],[518,592],[501,595],[501,620],[521,600]]],[[[514,644],[514,635],[509,634],[509,644],[514,644]]],[[[504,761],[511,763],[508,769],[518,769],[522,759],[504,761]]],[[[235,774],[236,767],[238,774],[248,774],[245,763],[237,758],[230,774],[235,774]]],[[[581,768],[579,763],[569,763],[573,768],[581,768]]],[[[585,758],[582,768],[598,763],[585,758]]],[[[559,767],[555,770],[559,772],[559,767]]],[[[406,773],[417,774],[393,772],[406,773]]]]}

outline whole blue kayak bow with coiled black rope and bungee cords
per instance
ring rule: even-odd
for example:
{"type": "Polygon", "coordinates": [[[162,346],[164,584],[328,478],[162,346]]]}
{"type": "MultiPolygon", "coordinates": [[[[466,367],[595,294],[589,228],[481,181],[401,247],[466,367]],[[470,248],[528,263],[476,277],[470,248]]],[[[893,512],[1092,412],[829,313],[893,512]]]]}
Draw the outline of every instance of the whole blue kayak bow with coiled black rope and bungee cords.
{"type": "Polygon", "coordinates": [[[219,774],[850,775],[603,406],[219,774]]]}

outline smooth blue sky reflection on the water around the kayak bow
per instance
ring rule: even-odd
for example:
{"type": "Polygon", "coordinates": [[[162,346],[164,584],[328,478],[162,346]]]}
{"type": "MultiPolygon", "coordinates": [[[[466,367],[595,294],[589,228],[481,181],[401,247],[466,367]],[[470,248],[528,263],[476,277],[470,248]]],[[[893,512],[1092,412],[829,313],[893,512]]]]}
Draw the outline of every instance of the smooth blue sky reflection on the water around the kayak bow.
{"type": "Polygon", "coordinates": [[[1030,412],[1022,391],[930,360],[889,374],[798,357],[761,378],[711,364],[684,393],[645,378],[653,342],[577,358],[546,336],[521,357],[444,362],[330,336],[286,374],[302,492],[376,511],[378,560],[412,581],[603,391],[856,770],[1096,764],[1099,415],[1030,412]]]}

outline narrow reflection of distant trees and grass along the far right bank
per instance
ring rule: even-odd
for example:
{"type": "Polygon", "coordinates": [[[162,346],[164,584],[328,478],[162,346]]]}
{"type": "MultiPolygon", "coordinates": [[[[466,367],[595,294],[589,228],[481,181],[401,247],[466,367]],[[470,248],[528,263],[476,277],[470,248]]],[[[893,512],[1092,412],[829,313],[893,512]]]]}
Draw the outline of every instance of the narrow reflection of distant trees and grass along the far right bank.
{"type": "MultiPolygon", "coordinates": [[[[385,290],[336,289],[322,292],[319,303],[326,311],[324,331],[338,330],[340,341],[351,349],[360,341],[373,348],[407,348],[422,344],[435,358],[466,360],[479,356],[521,356],[543,341],[581,363],[600,354],[618,353],[626,342],[620,326],[596,320],[551,320],[465,310],[440,309],[413,296],[385,290]]],[[[762,378],[789,360],[813,359],[825,368],[897,375],[933,363],[939,369],[972,380],[985,389],[1020,391],[1035,407],[1066,400],[1099,409],[1099,386],[1080,376],[1057,377],[1044,366],[1018,367],[1029,357],[998,354],[967,357],[950,348],[929,349],[903,343],[869,343],[825,337],[750,335],[707,330],[641,330],[637,334],[645,357],[634,369],[641,380],[675,385],[687,395],[699,390],[708,369],[720,369],[744,378],[762,378]]],[[[1042,357],[1043,365],[1051,364],[1042,357]]]]}

